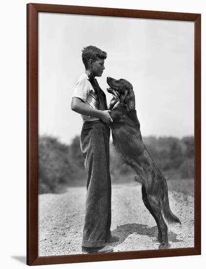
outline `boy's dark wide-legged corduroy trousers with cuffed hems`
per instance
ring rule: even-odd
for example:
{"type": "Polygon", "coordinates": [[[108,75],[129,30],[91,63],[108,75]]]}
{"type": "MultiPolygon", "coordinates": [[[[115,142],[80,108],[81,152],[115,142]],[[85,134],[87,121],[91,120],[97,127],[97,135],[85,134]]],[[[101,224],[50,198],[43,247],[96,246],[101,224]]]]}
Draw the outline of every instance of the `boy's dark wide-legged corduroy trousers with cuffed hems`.
{"type": "Polygon", "coordinates": [[[110,128],[101,120],[84,122],[80,138],[85,158],[86,204],[82,247],[103,247],[111,237],[110,128]]]}

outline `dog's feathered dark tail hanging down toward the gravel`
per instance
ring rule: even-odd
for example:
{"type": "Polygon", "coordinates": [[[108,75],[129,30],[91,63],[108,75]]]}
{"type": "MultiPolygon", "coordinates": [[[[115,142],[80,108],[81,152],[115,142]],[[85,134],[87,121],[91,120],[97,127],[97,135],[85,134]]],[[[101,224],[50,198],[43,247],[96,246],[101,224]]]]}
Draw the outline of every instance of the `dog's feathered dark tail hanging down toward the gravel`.
{"type": "Polygon", "coordinates": [[[179,220],[179,218],[177,216],[175,216],[170,207],[169,207],[169,199],[168,199],[168,188],[167,188],[167,183],[166,183],[166,179],[163,177],[162,179],[162,184],[163,184],[163,206],[162,206],[162,212],[164,214],[164,217],[166,219],[166,221],[170,224],[175,224],[175,223],[179,223],[181,224],[181,221],[179,220]]]}

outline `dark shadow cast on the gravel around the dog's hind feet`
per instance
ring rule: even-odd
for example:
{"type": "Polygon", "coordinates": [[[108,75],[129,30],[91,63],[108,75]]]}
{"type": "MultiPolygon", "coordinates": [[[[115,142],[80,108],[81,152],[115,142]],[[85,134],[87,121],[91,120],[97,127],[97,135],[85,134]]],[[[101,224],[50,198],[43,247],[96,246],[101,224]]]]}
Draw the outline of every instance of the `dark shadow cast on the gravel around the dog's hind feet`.
{"type": "MultiPolygon", "coordinates": [[[[136,224],[136,223],[117,226],[117,229],[112,231],[112,235],[120,237],[120,241],[114,243],[115,247],[122,244],[124,240],[130,234],[133,234],[133,233],[139,234],[139,235],[145,235],[145,236],[157,239],[158,228],[157,226],[148,227],[145,224],[136,224]]],[[[177,234],[172,231],[168,231],[168,241],[173,242],[173,243],[183,242],[182,240],[177,239],[177,234]]]]}

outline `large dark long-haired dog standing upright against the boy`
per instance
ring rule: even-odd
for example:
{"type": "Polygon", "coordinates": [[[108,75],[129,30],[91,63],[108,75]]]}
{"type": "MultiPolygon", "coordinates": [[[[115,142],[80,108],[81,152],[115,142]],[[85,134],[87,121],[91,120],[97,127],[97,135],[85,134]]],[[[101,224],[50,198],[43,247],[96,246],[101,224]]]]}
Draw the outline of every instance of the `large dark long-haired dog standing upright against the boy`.
{"type": "Polygon", "coordinates": [[[124,79],[110,77],[107,77],[107,84],[110,86],[107,91],[114,95],[118,92],[120,98],[119,104],[111,111],[113,144],[124,162],[137,173],[136,180],[142,183],[143,202],[158,226],[159,248],[168,248],[167,225],[163,215],[168,223],[181,222],[169,207],[166,179],[143,143],[133,87],[124,79]]]}

